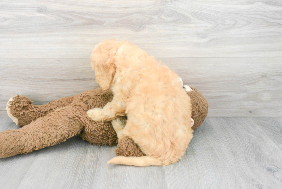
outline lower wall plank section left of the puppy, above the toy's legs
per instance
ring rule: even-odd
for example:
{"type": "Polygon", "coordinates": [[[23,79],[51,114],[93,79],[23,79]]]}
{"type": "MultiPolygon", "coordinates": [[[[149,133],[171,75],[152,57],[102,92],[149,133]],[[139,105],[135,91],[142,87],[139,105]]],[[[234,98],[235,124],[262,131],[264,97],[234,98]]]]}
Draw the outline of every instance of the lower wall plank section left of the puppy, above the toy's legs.
{"type": "Polygon", "coordinates": [[[0,116],[9,98],[28,96],[46,103],[95,89],[90,59],[0,59],[0,116]]]}

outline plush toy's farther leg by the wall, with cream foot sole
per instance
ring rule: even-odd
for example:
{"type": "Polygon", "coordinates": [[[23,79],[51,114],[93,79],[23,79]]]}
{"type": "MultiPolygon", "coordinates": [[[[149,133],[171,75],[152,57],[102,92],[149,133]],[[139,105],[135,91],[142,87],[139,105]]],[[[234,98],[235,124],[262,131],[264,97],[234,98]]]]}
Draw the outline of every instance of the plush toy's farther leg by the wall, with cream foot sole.
{"type": "Polygon", "coordinates": [[[38,117],[43,117],[57,108],[67,106],[72,101],[73,96],[54,100],[43,105],[33,105],[29,98],[18,95],[10,98],[6,110],[8,116],[18,126],[25,126],[38,117]]]}

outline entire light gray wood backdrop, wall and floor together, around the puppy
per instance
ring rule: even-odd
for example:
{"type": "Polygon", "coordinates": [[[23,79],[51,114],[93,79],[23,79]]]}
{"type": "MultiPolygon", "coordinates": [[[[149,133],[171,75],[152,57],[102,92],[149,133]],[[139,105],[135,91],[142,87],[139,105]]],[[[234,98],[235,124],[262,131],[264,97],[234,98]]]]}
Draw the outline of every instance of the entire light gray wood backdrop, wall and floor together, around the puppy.
{"type": "Polygon", "coordinates": [[[185,156],[107,165],[79,136],[0,159],[1,188],[282,188],[282,1],[0,0],[0,131],[16,94],[36,103],[97,88],[91,51],[128,40],[209,102],[185,156]],[[275,118],[276,117],[276,118],[275,118]]]}

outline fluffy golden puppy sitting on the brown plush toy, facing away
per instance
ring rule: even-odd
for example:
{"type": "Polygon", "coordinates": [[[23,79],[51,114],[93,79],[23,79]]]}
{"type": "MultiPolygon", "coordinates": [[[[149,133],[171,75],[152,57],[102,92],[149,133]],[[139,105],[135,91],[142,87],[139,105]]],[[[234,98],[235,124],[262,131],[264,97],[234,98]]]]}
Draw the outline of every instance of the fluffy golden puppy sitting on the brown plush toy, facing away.
{"type": "Polygon", "coordinates": [[[124,128],[113,124],[114,129],[119,138],[130,137],[146,154],[117,156],[108,163],[169,165],[181,159],[193,130],[190,97],[177,74],[127,41],[106,40],[98,44],[91,65],[96,82],[102,89],[110,88],[114,97],[104,108],[91,109],[87,115],[95,121],[127,115],[124,128]]]}

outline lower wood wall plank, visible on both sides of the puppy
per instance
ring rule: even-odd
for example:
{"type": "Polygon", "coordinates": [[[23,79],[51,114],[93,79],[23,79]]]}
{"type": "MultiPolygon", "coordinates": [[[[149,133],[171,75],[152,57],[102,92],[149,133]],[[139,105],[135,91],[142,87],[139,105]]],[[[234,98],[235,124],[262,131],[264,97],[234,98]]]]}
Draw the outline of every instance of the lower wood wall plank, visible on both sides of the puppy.
{"type": "MultiPolygon", "coordinates": [[[[209,117],[282,116],[282,57],[162,58],[209,102],[209,117]]],[[[37,103],[97,88],[90,59],[0,59],[0,116],[17,94],[37,103]]]]}

